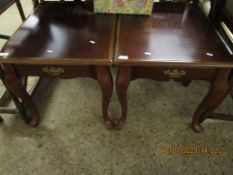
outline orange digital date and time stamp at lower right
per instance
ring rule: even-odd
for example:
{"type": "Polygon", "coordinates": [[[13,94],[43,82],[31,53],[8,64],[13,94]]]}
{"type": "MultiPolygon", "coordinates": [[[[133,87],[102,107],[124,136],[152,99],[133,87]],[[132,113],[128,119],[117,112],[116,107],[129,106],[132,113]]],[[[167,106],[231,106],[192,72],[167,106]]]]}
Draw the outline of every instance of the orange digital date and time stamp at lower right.
{"type": "Polygon", "coordinates": [[[219,154],[218,147],[161,147],[163,154],[219,154]]]}

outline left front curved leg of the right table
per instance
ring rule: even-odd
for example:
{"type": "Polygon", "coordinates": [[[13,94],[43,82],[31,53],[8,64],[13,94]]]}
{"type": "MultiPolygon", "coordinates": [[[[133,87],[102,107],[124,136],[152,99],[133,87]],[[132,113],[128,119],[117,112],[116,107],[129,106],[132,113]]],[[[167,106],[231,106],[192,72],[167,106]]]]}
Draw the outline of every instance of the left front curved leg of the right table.
{"type": "Polygon", "coordinates": [[[129,87],[130,80],[131,80],[131,67],[119,66],[117,79],[116,79],[116,91],[121,105],[122,114],[121,114],[121,118],[116,123],[115,126],[116,129],[123,128],[127,119],[127,111],[128,111],[127,90],[129,87]]]}

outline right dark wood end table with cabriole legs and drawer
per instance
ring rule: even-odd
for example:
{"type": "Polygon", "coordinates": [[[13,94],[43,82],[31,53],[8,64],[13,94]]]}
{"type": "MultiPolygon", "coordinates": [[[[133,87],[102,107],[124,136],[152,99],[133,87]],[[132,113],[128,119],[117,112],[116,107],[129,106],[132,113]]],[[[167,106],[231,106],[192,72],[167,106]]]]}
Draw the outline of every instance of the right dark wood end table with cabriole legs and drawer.
{"type": "Polygon", "coordinates": [[[232,52],[196,4],[170,4],[155,10],[152,16],[119,17],[115,64],[122,116],[116,127],[122,128],[126,121],[130,81],[172,79],[188,85],[206,80],[211,83],[209,93],[192,120],[194,131],[201,132],[206,118],[224,118],[213,111],[232,88],[232,52]]]}

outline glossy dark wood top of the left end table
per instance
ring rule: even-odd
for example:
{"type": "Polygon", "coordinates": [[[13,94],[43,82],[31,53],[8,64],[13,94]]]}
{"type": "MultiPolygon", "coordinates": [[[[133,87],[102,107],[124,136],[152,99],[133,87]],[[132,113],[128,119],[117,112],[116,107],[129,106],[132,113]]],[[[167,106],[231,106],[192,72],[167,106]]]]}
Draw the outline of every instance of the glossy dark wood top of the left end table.
{"type": "Polygon", "coordinates": [[[40,4],[13,34],[0,63],[110,65],[116,17],[75,2],[40,4]]]}

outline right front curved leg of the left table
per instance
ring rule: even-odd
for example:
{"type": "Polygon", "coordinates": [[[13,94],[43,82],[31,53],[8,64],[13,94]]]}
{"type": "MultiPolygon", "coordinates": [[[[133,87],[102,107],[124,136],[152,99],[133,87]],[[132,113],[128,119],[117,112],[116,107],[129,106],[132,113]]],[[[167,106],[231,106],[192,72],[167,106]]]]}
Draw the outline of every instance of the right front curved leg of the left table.
{"type": "Polygon", "coordinates": [[[107,129],[113,129],[114,123],[109,118],[108,106],[112,97],[113,80],[109,66],[97,66],[97,80],[102,90],[102,112],[104,125],[107,129]]]}

